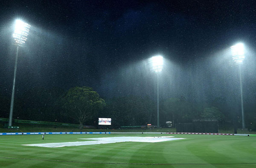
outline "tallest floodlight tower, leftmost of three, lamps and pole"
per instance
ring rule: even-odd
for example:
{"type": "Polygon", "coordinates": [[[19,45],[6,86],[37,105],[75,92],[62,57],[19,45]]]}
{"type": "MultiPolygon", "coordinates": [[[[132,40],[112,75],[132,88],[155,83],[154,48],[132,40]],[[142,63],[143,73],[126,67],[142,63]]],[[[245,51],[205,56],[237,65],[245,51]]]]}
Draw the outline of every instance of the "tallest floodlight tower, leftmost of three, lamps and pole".
{"type": "Polygon", "coordinates": [[[16,81],[16,71],[17,71],[17,60],[18,60],[18,50],[19,47],[22,47],[27,40],[29,34],[30,25],[21,21],[15,21],[15,31],[13,33],[13,38],[15,40],[15,45],[17,46],[16,57],[15,57],[15,68],[14,68],[14,77],[13,77],[13,86],[12,86],[12,100],[10,107],[10,116],[9,116],[9,126],[12,126],[12,112],[13,112],[13,103],[14,103],[14,93],[15,93],[15,81],[16,81]]]}

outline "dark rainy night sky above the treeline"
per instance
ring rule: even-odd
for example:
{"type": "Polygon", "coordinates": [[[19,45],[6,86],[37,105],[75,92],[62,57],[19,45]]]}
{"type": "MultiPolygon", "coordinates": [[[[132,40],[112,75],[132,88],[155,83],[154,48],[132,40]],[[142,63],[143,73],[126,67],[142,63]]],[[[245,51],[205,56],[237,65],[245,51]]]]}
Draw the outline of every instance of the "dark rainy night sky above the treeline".
{"type": "Polygon", "coordinates": [[[19,50],[15,96],[31,88],[89,86],[103,98],[155,97],[147,59],[162,55],[160,98],[239,101],[230,46],[244,42],[245,102],[256,101],[256,1],[0,1],[0,94],[10,96],[15,65],[12,33],[31,25],[19,50]]]}

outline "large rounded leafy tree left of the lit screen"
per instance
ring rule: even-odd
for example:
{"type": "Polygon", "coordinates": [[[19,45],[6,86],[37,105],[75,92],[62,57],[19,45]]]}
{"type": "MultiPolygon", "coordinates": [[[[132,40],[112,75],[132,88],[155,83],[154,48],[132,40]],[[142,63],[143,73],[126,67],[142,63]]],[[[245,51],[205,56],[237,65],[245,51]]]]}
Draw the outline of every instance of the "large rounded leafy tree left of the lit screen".
{"type": "Polygon", "coordinates": [[[91,87],[73,87],[61,101],[64,115],[78,121],[79,129],[82,129],[85,121],[95,119],[99,110],[105,106],[105,101],[91,87]]]}

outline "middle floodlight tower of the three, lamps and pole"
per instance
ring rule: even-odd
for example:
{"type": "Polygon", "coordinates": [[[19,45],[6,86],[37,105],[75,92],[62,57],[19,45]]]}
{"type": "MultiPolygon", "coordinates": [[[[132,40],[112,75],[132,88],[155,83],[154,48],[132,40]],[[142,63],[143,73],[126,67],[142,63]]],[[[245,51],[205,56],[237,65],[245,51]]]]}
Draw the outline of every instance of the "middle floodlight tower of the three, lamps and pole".
{"type": "Polygon", "coordinates": [[[152,69],[157,73],[157,128],[159,128],[159,84],[158,84],[158,73],[163,69],[163,57],[153,56],[149,60],[152,65],[152,69]]]}

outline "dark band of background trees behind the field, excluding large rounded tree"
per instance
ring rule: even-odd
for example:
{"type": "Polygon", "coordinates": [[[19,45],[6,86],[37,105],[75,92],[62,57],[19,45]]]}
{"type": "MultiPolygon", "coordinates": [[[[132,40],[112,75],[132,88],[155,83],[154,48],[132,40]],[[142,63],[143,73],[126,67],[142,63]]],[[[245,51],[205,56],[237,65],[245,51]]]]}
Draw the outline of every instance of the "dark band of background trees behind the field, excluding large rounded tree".
{"type": "MultiPolygon", "coordinates": [[[[67,91],[58,88],[28,90],[24,95],[15,97],[13,118],[79,124],[75,118],[70,117],[72,109],[65,108],[65,96],[67,97],[67,91]]],[[[79,94],[77,96],[79,97],[79,94]]],[[[90,116],[85,118],[83,125],[97,126],[98,118],[112,118],[113,128],[157,123],[157,103],[150,97],[129,95],[103,99],[103,108],[94,109],[90,116]]],[[[1,95],[0,104],[0,117],[9,118],[10,98],[1,95]]],[[[254,109],[255,106],[245,104],[245,125],[249,130],[256,130],[254,109]]],[[[241,128],[241,113],[234,112],[223,98],[215,98],[211,102],[192,102],[181,95],[160,100],[162,127],[167,126],[166,121],[172,121],[175,126],[176,123],[189,123],[198,118],[218,119],[220,126],[225,129],[233,128],[233,123],[236,122],[241,128]]]]}

